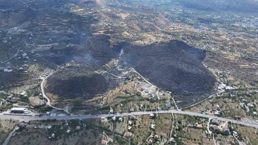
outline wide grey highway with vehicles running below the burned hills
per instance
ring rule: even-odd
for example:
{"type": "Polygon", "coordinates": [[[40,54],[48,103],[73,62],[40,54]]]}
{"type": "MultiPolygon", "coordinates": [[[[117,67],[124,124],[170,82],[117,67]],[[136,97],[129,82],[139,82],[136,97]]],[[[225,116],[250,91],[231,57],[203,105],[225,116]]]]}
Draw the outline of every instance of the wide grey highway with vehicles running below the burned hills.
{"type": "Polygon", "coordinates": [[[117,114],[99,114],[99,115],[71,115],[71,117],[68,116],[19,116],[19,115],[3,115],[0,114],[1,119],[17,119],[17,120],[43,120],[43,119],[89,119],[89,118],[101,118],[101,117],[107,117],[107,116],[128,116],[128,115],[146,115],[146,114],[152,114],[152,113],[177,113],[177,114],[186,114],[186,115],[192,115],[192,116],[199,116],[199,117],[207,117],[207,118],[216,118],[220,121],[224,122],[232,122],[235,124],[242,124],[245,126],[250,126],[254,128],[258,128],[258,124],[249,124],[247,122],[243,122],[241,120],[233,120],[229,118],[224,117],[217,117],[213,115],[207,115],[197,112],[189,112],[189,111],[181,111],[179,110],[160,110],[160,111],[140,111],[140,112],[127,112],[127,113],[117,113],[117,114]]]}

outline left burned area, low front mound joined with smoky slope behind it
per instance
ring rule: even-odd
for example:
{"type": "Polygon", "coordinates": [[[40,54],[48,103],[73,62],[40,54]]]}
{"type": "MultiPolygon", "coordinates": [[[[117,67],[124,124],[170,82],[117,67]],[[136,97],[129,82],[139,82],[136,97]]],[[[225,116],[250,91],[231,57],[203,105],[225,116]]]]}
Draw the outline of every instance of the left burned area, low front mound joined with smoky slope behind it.
{"type": "Polygon", "coordinates": [[[83,46],[69,54],[69,59],[75,60],[77,65],[58,70],[48,77],[46,92],[67,99],[76,97],[90,99],[116,86],[116,80],[107,80],[103,75],[94,72],[112,58],[119,56],[120,50],[110,47],[109,39],[110,37],[106,35],[85,39],[83,46]]]}

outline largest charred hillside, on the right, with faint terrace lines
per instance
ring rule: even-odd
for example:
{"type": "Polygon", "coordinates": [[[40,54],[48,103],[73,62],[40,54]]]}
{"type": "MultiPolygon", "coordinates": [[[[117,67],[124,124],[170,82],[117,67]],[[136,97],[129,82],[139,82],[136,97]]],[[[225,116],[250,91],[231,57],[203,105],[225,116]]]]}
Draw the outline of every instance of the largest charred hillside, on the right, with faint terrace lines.
{"type": "Polygon", "coordinates": [[[120,65],[135,68],[157,87],[171,91],[179,106],[203,99],[214,89],[216,78],[201,62],[204,50],[175,40],[123,49],[120,65]]]}

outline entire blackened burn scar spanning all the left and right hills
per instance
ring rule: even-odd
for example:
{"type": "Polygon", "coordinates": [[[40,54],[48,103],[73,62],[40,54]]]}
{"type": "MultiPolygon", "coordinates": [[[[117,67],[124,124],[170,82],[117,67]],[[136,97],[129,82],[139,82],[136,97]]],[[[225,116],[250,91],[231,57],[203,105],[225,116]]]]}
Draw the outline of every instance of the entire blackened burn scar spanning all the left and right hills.
{"type": "Polygon", "coordinates": [[[119,58],[120,65],[135,68],[150,82],[171,91],[179,106],[199,101],[214,89],[216,79],[201,62],[205,58],[204,50],[176,40],[145,46],[120,43],[114,47],[109,40],[106,35],[91,36],[85,38],[81,46],[70,50],[72,53],[62,56],[65,59],[52,59],[57,64],[64,63],[60,60],[75,60],[78,65],[48,77],[46,92],[86,99],[107,92],[115,83],[94,71],[113,58],[119,58]],[[124,54],[119,56],[121,49],[124,54]]]}

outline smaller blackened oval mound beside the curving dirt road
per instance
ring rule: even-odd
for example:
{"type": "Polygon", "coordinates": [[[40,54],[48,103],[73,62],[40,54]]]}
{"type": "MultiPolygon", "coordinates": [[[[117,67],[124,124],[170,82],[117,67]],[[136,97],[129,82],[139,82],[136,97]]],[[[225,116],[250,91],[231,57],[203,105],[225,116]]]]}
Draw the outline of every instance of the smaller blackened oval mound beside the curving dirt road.
{"type": "Polygon", "coordinates": [[[45,91],[60,98],[83,97],[90,99],[113,88],[114,84],[106,80],[103,75],[87,72],[88,70],[83,68],[58,70],[48,77],[45,91]]]}

